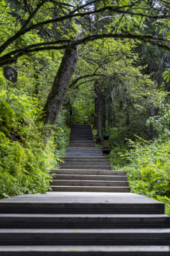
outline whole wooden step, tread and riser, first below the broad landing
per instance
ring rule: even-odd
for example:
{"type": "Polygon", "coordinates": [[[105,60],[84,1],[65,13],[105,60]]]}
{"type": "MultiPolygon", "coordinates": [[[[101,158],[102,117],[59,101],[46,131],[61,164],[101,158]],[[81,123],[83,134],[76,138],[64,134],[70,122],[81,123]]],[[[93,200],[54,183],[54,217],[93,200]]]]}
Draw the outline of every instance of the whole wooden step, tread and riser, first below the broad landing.
{"type": "Polygon", "coordinates": [[[170,228],[165,214],[0,214],[1,228],[170,228]]]}

